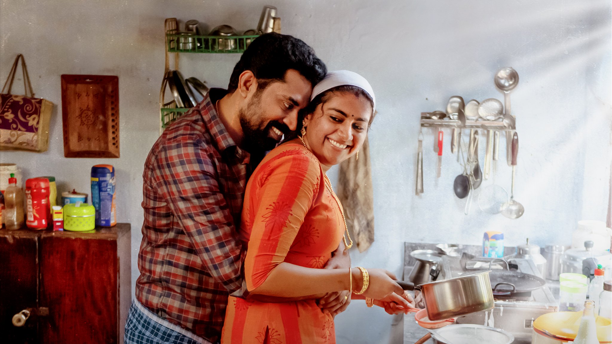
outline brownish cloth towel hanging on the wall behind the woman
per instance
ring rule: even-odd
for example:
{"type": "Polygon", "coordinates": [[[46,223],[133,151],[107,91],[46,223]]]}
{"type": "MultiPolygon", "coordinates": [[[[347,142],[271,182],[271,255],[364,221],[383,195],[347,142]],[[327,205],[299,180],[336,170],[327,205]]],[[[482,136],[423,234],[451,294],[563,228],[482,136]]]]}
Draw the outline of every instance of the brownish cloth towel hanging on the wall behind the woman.
{"type": "Polygon", "coordinates": [[[340,163],[338,198],[346,217],[346,226],[356,238],[357,249],[364,252],[374,242],[374,190],[370,168],[368,139],[355,157],[340,163]]]}

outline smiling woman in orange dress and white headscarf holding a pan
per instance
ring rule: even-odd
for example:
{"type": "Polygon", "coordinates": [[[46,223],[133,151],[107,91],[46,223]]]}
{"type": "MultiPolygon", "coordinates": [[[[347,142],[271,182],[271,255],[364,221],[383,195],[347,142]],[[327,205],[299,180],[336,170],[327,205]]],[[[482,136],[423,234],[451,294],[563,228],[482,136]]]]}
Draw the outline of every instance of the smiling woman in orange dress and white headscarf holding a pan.
{"type": "Polygon", "coordinates": [[[334,318],[316,303],[326,293],[348,291],[332,301],[338,305],[359,294],[389,313],[412,302],[383,269],[323,269],[341,240],[346,249],[352,245],[325,173],[359,151],[374,108],[363,77],[328,73],[313,89],[300,135],[272,150],[253,172],[241,223],[248,291],[306,299],[267,303],[230,296],[222,343],[335,343],[334,318]]]}

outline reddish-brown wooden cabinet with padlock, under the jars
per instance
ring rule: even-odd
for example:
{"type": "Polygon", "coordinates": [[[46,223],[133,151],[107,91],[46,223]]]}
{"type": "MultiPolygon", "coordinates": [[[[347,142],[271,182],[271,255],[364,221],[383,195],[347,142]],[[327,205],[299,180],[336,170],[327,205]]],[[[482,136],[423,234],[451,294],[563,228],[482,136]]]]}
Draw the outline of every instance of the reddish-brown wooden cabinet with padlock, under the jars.
{"type": "Polygon", "coordinates": [[[123,343],[130,264],[128,223],[95,233],[0,230],[0,342],[123,343]],[[17,327],[21,310],[30,316],[17,327]]]}

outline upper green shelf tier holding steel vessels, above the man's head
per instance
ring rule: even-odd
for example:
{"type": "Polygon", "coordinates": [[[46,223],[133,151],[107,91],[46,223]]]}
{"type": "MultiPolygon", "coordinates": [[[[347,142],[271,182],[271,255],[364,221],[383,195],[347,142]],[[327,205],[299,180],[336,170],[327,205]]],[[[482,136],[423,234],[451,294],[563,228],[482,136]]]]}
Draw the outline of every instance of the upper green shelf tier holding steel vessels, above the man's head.
{"type": "Polygon", "coordinates": [[[166,34],[169,53],[241,54],[259,35],[196,36],[191,32],[166,34]]]}

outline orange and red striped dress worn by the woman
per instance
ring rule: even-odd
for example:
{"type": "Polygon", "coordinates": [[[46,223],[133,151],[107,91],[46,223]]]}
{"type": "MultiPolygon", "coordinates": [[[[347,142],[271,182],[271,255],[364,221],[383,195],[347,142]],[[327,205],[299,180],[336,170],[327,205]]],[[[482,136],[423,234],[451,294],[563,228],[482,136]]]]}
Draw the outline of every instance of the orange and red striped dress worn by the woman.
{"type": "MultiPolygon", "coordinates": [[[[241,225],[248,290],[283,261],[322,269],[337,249],[344,225],[323,176],[315,155],[293,143],[278,146],[253,172],[241,225]]],[[[335,343],[334,320],[314,299],[267,303],[230,296],[221,342],[335,343]]]]}

